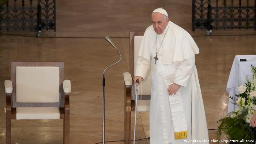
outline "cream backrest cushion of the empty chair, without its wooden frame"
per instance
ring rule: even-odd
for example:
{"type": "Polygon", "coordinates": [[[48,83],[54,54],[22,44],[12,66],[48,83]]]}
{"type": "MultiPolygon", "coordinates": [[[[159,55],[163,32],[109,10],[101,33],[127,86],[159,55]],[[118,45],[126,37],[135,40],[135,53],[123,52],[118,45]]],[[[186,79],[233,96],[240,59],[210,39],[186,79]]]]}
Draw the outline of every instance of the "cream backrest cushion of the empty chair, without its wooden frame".
{"type": "Polygon", "coordinates": [[[59,71],[59,67],[16,67],[16,102],[59,102],[59,71]]]}

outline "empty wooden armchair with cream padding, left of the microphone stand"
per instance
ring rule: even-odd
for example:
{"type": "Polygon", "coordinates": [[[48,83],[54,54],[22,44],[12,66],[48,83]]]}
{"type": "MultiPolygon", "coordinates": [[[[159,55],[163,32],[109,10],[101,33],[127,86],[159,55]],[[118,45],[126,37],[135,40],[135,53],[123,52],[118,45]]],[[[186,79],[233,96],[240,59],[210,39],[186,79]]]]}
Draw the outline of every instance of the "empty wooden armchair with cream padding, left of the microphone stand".
{"type": "Polygon", "coordinates": [[[6,144],[11,144],[11,120],[64,119],[63,143],[69,144],[70,80],[64,62],[12,62],[6,92],[6,144]]]}

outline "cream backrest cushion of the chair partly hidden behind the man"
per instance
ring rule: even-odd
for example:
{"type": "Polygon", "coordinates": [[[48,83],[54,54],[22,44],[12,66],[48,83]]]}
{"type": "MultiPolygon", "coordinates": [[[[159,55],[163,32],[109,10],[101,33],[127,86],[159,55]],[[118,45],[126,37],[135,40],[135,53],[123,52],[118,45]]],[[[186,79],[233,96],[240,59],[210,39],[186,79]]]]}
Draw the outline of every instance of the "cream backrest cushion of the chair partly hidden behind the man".
{"type": "MultiPolygon", "coordinates": [[[[138,54],[143,36],[134,37],[134,73],[136,72],[136,65],[138,61],[138,54]]],[[[144,81],[139,85],[139,95],[150,95],[151,94],[151,70],[149,70],[146,77],[143,77],[144,81]]],[[[136,87],[134,87],[136,92],[136,87]]]]}

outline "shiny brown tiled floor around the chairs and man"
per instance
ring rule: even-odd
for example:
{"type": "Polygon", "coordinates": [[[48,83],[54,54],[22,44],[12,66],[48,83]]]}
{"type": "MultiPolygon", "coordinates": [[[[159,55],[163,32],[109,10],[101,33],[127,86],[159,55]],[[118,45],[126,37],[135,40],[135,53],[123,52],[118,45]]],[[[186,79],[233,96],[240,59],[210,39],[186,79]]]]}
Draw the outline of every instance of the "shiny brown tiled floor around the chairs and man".
{"type": "MultiPolygon", "coordinates": [[[[106,141],[123,140],[124,80],[129,71],[129,31],[144,31],[157,7],[166,8],[170,20],[187,30],[200,54],[196,66],[208,129],[227,114],[226,84],[234,56],[256,54],[253,30],[191,31],[191,2],[187,0],[68,0],[57,1],[57,31],[2,31],[0,34],[0,144],[5,143],[4,80],[11,79],[11,61],[64,61],[64,78],[71,80],[70,143],[102,141],[102,71],[118,60],[103,37],[110,35],[123,59],[106,71],[106,141]],[[51,38],[48,38],[51,37],[51,38]],[[57,38],[52,38],[57,37],[57,38]],[[69,38],[67,38],[69,37],[69,38]]],[[[134,113],[132,113],[134,117],[134,113]]],[[[149,114],[137,116],[136,139],[149,137],[149,114]]],[[[134,121],[134,118],[132,119],[134,121]]],[[[61,144],[63,120],[12,120],[13,144],[61,144]]],[[[216,130],[209,130],[215,139],[216,130]]],[[[123,142],[112,142],[121,144],[123,142]]],[[[149,144],[148,139],[137,144],[149,144]]]]}

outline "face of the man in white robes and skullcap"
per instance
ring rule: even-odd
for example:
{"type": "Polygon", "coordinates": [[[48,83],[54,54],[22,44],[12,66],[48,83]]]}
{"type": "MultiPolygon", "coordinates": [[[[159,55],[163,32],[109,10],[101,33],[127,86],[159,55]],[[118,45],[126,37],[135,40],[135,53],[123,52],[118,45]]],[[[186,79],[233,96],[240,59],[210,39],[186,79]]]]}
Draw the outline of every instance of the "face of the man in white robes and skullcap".
{"type": "Polygon", "coordinates": [[[169,22],[169,19],[159,12],[153,12],[151,19],[155,32],[157,34],[162,34],[169,22]]]}

